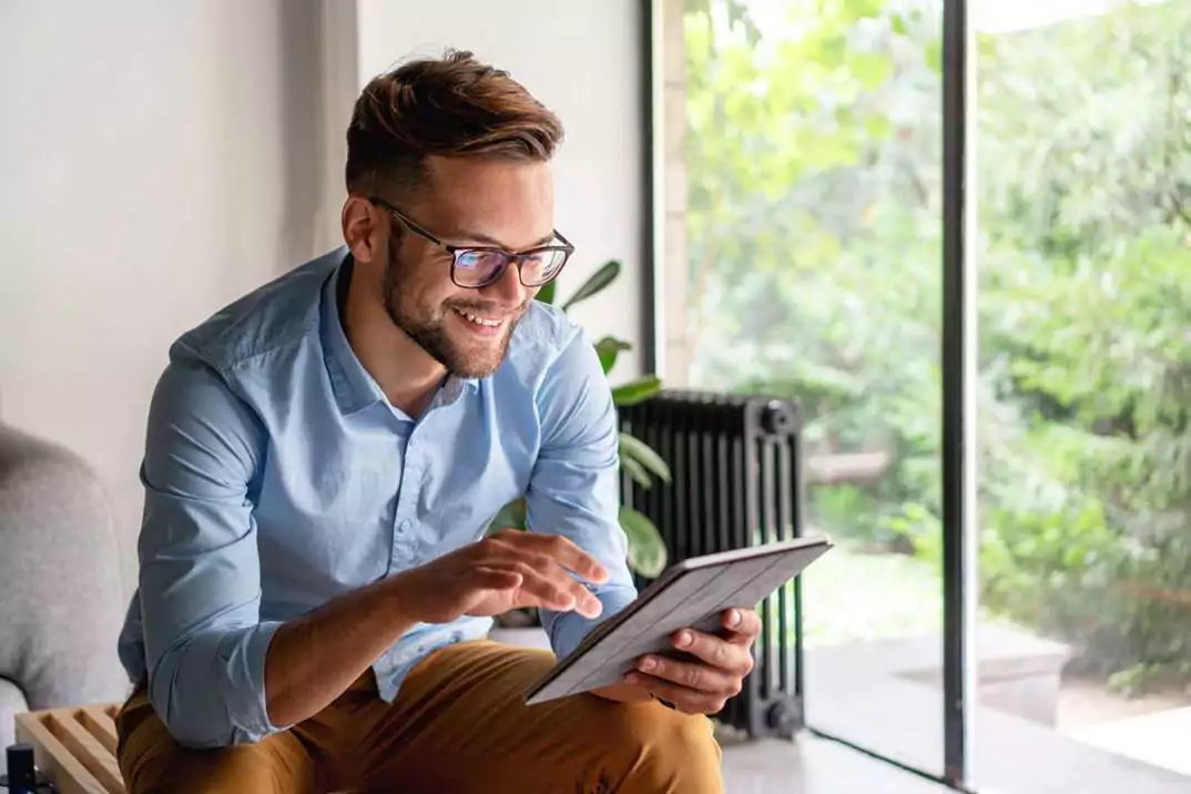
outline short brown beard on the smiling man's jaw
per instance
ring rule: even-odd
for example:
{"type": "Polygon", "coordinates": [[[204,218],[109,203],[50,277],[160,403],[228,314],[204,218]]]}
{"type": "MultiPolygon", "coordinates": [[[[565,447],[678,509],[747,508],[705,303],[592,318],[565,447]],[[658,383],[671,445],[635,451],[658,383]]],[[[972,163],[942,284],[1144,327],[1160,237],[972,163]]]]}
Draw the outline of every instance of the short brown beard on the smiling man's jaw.
{"type": "Polygon", "coordinates": [[[410,268],[400,263],[399,248],[400,238],[391,237],[382,286],[388,319],[455,377],[487,377],[497,371],[509,352],[509,342],[525,312],[525,306],[523,305],[505,323],[499,339],[486,343],[460,339],[461,331],[456,330],[454,336],[451,333],[450,314],[454,310],[482,314],[492,308],[493,302],[451,300],[437,307],[418,302],[413,290],[410,289],[412,281],[410,268]]]}

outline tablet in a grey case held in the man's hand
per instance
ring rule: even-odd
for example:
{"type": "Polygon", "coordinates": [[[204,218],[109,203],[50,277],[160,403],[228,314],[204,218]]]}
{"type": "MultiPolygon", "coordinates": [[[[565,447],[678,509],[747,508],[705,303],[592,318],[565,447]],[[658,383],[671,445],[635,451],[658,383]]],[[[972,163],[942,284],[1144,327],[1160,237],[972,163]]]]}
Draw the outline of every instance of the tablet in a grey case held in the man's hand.
{"type": "Polygon", "coordinates": [[[531,684],[526,704],[619,683],[644,654],[680,656],[669,640],[675,631],[722,631],[724,609],[756,608],[831,546],[827,537],[813,536],[691,557],[672,565],[531,684]]]}

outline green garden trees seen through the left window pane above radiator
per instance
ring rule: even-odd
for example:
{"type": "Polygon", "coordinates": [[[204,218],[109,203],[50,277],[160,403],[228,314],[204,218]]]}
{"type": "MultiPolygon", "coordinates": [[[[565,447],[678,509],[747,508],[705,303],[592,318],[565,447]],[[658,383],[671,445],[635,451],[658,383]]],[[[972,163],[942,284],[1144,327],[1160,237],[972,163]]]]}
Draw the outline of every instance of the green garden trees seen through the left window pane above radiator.
{"type": "Polygon", "coordinates": [[[693,376],[798,400],[811,452],[892,452],[875,493],[815,494],[873,538],[939,501],[939,19],[919,5],[686,21],[693,376]]]}

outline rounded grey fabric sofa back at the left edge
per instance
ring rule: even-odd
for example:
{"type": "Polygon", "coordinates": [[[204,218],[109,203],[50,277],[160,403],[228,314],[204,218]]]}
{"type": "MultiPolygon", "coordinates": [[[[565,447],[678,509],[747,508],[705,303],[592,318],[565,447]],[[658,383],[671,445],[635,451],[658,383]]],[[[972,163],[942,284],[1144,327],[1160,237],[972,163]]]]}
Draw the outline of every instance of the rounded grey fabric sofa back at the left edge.
{"type": "MultiPolygon", "coordinates": [[[[123,696],[119,561],[104,489],[74,454],[5,425],[0,549],[0,676],[32,709],[123,696]]],[[[0,702],[6,730],[10,708],[0,702]]]]}

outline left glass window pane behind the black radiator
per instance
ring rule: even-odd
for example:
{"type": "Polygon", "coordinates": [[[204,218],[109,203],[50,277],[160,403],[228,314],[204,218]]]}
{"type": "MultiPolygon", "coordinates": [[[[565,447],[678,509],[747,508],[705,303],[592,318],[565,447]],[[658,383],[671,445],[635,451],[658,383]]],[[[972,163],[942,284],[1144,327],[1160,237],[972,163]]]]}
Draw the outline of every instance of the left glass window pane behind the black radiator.
{"type": "Polygon", "coordinates": [[[666,376],[803,407],[807,721],[941,774],[940,20],[886,5],[687,4],[666,376]]]}

